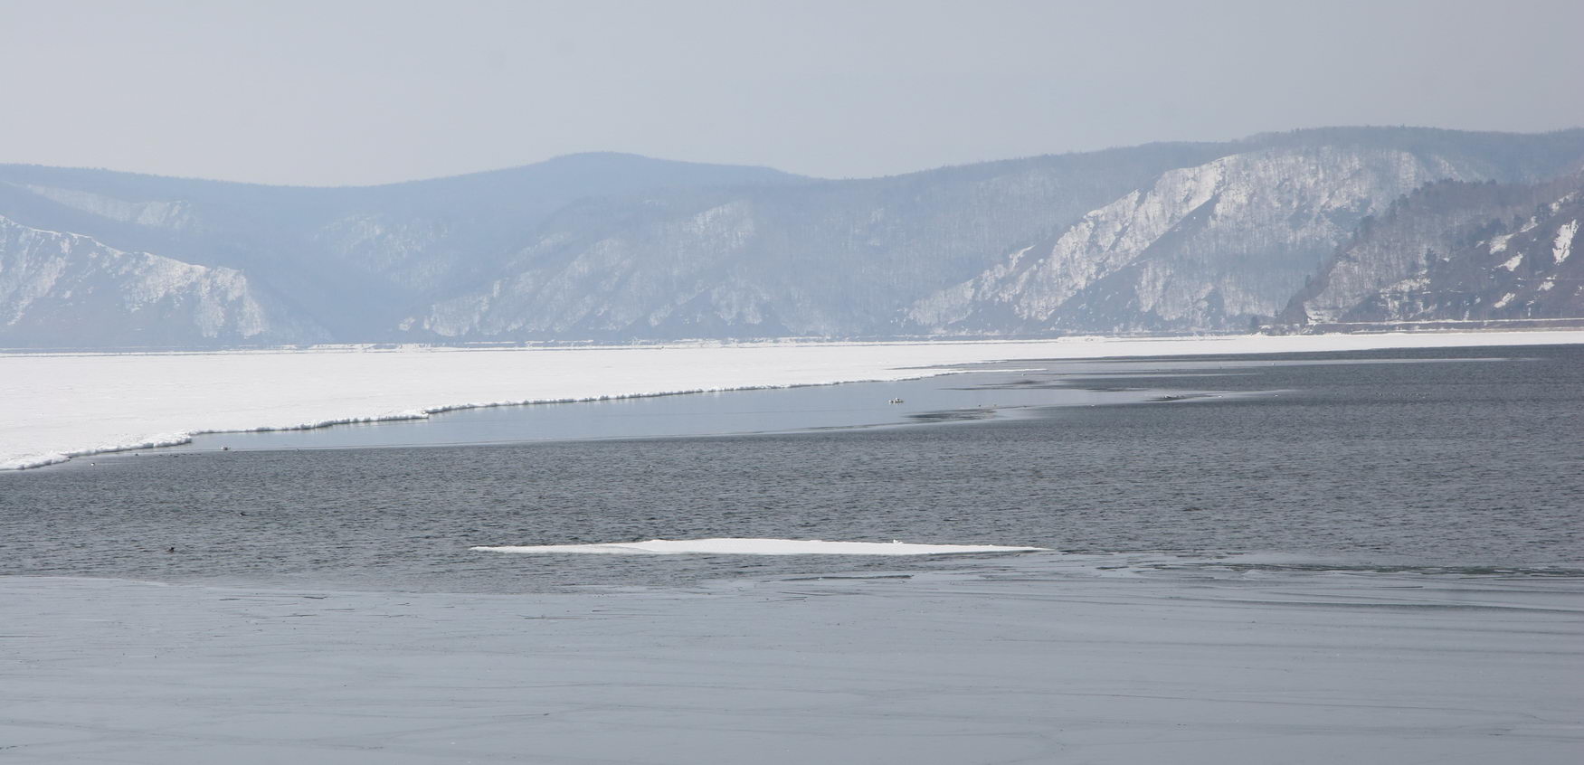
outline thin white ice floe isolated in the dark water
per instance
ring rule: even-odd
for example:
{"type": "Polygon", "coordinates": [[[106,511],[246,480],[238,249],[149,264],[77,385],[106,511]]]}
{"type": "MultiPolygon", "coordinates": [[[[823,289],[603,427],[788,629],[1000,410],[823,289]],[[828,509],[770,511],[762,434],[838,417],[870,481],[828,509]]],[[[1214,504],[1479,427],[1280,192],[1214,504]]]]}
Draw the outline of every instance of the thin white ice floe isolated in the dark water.
{"type": "Polygon", "coordinates": [[[732,556],[928,556],[954,553],[1041,553],[1042,546],[917,545],[908,542],[824,542],[802,539],[651,539],[600,545],[475,546],[488,553],[732,554],[732,556]]]}

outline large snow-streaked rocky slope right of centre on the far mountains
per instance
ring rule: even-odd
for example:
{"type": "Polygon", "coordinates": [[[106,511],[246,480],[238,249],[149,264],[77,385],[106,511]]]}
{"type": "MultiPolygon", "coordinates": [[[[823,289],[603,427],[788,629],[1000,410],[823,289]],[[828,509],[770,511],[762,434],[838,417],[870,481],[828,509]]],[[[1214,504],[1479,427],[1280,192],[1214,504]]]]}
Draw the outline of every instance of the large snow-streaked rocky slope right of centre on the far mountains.
{"type": "Polygon", "coordinates": [[[1223,157],[1161,174],[908,318],[938,333],[1242,328],[1274,315],[1364,215],[1427,181],[1470,176],[1392,149],[1223,157]]]}

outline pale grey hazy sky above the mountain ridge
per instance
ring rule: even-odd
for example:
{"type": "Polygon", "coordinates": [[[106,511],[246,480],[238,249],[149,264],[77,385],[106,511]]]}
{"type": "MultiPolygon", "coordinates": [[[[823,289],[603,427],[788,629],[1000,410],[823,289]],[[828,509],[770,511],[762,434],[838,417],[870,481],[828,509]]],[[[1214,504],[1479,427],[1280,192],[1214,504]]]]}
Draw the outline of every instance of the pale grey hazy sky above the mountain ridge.
{"type": "Polygon", "coordinates": [[[581,150],[873,176],[1584,125],[1584,0],[0,0],[0,162],[371,184],[581,150]]]}

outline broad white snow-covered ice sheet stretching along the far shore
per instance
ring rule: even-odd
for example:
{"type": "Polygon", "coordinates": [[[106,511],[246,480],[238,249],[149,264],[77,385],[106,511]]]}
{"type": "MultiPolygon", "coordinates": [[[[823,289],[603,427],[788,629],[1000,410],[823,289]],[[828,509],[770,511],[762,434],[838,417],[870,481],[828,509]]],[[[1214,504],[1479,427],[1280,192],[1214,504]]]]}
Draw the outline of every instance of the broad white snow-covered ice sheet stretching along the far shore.
{"type": "Polygon", "coordinates": [[[629,348],[0,353],[0,469],[196,432],[415,420],[453,409],[938,374],[1001,360],[1579,344],[1584,331],[629,348]]]}

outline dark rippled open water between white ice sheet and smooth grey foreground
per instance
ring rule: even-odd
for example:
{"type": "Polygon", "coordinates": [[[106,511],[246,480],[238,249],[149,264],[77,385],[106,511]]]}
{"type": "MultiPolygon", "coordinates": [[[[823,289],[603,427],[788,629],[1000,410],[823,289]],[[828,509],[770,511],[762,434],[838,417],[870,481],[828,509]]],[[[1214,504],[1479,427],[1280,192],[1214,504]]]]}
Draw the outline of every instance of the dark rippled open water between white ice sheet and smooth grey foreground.
{"type": "MultiPolygon", "coordinates": [[[[0,474],[0,575],[515,592],[961,564],[469,550],[654,537],[1584,569],[1581,347],[1017,366],[1050,372],[912,383],[977,404],[909,426],[146,451],[0,474]],[[1074,386],[1134,402],[982,418],[987,398],[1074,386]]],[[[423,423],[401,428],[394,442],[421,440],[423,423]]]]}

